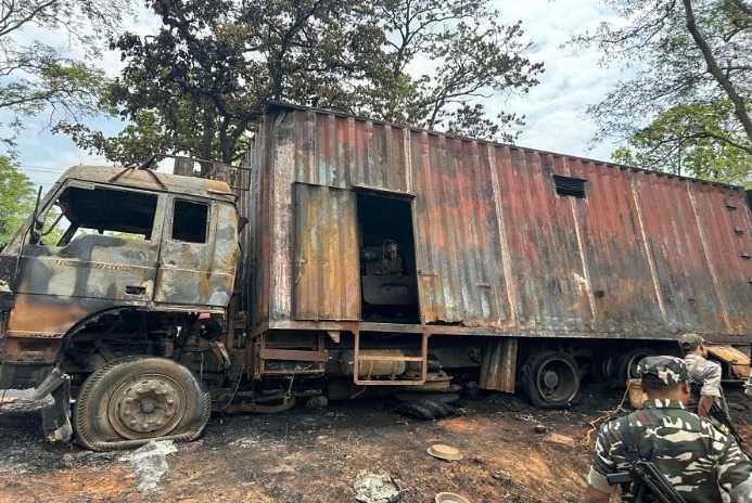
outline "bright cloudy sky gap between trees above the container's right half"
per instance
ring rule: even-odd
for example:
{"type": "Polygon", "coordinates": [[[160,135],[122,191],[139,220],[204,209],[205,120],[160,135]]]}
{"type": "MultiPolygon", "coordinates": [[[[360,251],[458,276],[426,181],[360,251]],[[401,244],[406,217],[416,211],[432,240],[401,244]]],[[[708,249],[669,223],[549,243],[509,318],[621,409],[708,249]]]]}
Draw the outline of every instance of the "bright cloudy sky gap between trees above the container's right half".
{"type": "Polygon", "coordinates": [[[508,112],[526,116],[526,127],[518,143],[535,149],[608,159],[612,143],[589,142],[596,125],[586,115],[587,105],[600,101],[613,88],[621,73],[602,68],[594,50],[562,48],[573,36],[609,20],[608,11],[596,2],[582,0],[496,0],[506,23],[522,20],[534,47],[530,59],[543,61],[546,72],[540,85],[522,96],[498,100],[508,112]]]}

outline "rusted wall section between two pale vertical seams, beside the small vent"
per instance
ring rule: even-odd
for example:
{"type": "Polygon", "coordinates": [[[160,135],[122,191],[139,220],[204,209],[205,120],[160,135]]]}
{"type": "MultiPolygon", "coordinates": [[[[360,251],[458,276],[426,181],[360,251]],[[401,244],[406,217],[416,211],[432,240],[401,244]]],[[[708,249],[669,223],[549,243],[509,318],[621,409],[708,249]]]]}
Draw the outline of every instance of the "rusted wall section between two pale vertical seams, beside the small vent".
{"type": "Polygon", "coordinates": [[[496,149],[517,319],[527,330],[591,330],[572,198],[556,195],[553,166],[533,151],[496,149]]]}

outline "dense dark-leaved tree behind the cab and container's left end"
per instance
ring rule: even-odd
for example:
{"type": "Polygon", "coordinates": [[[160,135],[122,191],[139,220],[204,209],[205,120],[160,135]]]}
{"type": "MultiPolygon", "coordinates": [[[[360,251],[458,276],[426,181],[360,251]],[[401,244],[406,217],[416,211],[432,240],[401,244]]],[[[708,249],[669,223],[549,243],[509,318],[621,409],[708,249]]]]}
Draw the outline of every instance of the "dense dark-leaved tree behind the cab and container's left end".
{"type": "Polygon", "coordinates": [[[126,67],[103,98],[132,127],[110,139],[59,128],[122,163],[143,159],[143,145],[238,160],[268,102],[346,107],[347,82],[379,56],[380,31],[348,0],[149,4],[163,27],[116,40],[126,67]]]}

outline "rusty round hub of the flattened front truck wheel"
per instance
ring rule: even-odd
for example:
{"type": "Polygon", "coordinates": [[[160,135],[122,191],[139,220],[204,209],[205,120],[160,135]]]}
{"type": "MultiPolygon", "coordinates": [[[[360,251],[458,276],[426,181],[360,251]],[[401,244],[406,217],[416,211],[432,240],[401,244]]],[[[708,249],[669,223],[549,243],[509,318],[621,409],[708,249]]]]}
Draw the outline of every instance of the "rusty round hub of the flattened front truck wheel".
{"type": "Polygon", "coordinates": [[[110,402],[113,426],[126,438],[168,434],[184,413],[181,388],[164,375],[141,376],[122,386],[110,402]]]}

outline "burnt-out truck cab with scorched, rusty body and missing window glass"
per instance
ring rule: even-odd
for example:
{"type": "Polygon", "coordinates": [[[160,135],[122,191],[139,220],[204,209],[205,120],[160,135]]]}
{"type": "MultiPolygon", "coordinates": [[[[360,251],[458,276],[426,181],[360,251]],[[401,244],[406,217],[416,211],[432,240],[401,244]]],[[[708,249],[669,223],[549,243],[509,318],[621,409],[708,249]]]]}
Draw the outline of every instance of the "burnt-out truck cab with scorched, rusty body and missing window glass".
{"type": "MultiPolygon", "coordinates": [[[[161,302],[170,310],[224,310],[239,257],[233,199],[220,181],[97,166],[68,169],[40,205],[40,215],[56,205],[66,217],[61,241],[42,236],[22,243],[17,235],[2,252],[14,268],[16,257],[20,263],[3,335],[60,338],[100,313],[158,310],[161,302]],[[203,243],[174,240],[177,199],[211,208],[197,240],[203,243]]],[[[16,343],[9,344],[12,349],[16,343]]]]}

